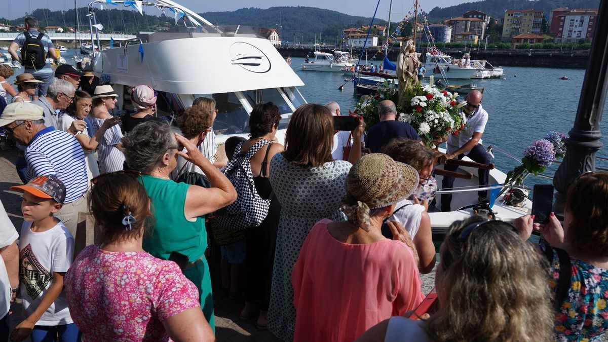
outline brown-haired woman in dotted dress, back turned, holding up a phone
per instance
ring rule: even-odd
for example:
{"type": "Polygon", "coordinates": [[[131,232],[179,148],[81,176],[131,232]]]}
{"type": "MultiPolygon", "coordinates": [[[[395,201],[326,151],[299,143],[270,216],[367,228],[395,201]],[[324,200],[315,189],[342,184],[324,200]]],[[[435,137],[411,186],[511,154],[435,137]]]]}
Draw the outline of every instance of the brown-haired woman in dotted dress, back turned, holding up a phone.
{"type": "MultiPolygon", "coordinates": [[[[361,155],[364,122],[353,130],[353,153],[361,155]]],[[[291,117],[285,152],[270,164],[269,180],[281,203],[277,246],[272,270],[268,329],[285,341],[295,330],[291,271],[314,224],[323,218],[344,221],[340,202],[352,164],[331,157],[334,128],[330,111],[322,105],[302,105],[291,117]]],[[[354,159],[351,159],[354,161],[354,159]]]]}

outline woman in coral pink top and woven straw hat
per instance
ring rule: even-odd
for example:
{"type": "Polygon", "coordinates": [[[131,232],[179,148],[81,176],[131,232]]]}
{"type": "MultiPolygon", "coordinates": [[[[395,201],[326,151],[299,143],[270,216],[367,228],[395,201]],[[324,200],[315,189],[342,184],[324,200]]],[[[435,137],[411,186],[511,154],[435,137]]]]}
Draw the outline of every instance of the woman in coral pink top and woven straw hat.
{"type": "Polygon", "coordinates": [[[395,240],[381,233],[383,220],[418,180],[413,167],[381,153],[363,156],[350,169],[342,201],[349,220],[318,222],[292,271],[295,342],[354,341],[420,304],[412,241],[396,222],[389,222],[395,240]]]}

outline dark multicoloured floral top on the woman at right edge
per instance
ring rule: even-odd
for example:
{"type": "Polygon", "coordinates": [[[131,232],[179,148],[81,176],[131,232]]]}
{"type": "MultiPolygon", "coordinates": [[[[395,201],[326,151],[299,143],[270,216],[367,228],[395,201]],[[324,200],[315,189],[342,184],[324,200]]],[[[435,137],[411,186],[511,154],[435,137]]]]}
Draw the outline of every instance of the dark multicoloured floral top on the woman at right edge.
{"type": "MultiPolygon", "coordinates": [[[[545,245],[541,250],[545,252],[545,245]]],[[[608,329],[608,270],[570,257],[570,288],[555,318],[556,341],[599,341],[608,329]]],[[[559,284],[559,257],[553,251],[551,293],[559,284]]]]}

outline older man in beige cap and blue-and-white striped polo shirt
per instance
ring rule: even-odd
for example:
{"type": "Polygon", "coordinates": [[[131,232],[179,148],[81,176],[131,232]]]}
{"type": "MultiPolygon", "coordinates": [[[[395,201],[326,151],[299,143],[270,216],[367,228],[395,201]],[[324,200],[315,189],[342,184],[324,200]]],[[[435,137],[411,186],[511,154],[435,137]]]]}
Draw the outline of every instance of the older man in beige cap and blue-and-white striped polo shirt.
{"type": "Polygon", "coordinates": [[[42,108],[32,103],[16,102],[6,106],[0,116],[0,127],[22,145],[27,146],[27,180],[37,176],[56,175],[66,186],[66,200],[55,217],[63,221],[76,236],[78,212],[88,211],[85,153],[74,136],[44,125],[42,108]]]}

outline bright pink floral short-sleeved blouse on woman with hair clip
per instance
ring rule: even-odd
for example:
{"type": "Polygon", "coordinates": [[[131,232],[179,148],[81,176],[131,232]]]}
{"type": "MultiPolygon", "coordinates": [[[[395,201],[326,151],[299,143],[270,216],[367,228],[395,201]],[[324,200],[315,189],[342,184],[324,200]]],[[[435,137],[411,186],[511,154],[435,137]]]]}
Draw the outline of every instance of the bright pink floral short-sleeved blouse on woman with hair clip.
{"type": "Polygon", "coordinates": [[[170,341],[162,321],[199,307],[176,263],[145,252],[86,247],[65,277],[67,304],[83,340],[170,341]]]}

